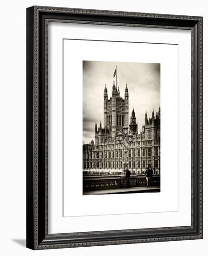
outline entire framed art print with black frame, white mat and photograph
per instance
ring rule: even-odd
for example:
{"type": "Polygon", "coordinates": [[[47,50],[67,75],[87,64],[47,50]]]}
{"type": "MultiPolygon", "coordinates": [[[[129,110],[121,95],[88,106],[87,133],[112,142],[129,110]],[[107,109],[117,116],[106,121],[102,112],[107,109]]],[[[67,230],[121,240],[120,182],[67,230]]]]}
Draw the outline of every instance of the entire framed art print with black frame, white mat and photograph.
{"type": "Polygon", "coordinates": [[[202,17],[27,8],[27,247],[202,238],[202,17]]]}

